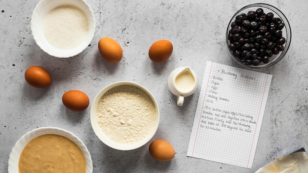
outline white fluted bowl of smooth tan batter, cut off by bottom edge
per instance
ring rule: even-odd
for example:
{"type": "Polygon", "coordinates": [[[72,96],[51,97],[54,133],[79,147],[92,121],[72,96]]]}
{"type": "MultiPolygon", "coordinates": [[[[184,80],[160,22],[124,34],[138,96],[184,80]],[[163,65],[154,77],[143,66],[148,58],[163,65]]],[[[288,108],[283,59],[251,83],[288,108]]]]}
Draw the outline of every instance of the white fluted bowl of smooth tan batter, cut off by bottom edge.
{"type": "Polygon", "coordinates": [[[86,145],[61,128],[41,127],[22,136],[12,148],[8,173],[92,173],[86,145]]]}

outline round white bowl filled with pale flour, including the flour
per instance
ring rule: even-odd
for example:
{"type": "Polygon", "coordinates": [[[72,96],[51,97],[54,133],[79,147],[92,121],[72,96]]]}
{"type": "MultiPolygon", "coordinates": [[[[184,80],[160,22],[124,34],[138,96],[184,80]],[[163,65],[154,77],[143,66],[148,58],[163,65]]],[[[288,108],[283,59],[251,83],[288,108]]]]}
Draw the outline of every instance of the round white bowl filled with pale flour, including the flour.
{"type": "Polygon", "coordinates": [[[158,105],[150,91],[139,84],[113,83],[94,98],[91,124],[104,144],[119,150],[136,149],[154,136],[159,124],[158,105]]]}

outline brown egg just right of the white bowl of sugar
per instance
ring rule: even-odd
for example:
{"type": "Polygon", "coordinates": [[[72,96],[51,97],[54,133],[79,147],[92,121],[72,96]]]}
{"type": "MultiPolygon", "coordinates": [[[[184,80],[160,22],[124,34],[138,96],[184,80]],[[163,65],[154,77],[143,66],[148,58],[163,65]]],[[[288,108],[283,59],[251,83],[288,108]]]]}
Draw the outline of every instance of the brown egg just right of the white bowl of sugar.
{"type": "Polygon", "coordinates": [[[98,50],[100,55],[108,62],[120,62],[123,51],[119,43],[109,37],[103,37],[98,42],[98,50]]]}

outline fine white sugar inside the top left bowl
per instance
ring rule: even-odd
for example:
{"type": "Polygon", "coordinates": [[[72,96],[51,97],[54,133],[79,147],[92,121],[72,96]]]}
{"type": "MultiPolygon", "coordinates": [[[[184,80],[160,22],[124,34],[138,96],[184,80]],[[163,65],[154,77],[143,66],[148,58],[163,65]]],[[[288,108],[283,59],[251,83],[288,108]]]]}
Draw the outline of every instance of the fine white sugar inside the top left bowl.
{"type": "Polygon", "coordinates": [[[62,5],[51,10],[43,24],[47,41],[62,50],[80,45],[85,40],[88,30],[86,14],[72,5],[62,5]]]}

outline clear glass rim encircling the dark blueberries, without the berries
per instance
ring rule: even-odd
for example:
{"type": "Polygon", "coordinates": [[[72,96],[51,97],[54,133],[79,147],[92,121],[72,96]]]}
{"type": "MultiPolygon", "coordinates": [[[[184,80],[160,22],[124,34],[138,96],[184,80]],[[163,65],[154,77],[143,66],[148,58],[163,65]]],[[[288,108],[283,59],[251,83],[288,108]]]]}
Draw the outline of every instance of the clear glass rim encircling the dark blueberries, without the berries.
{"type": "Polygon", "coordinates": [[[292,31],[291,31],[291,26],[290,26],[290,23],[288,21],[288,19],[286,18],[286,16],[284,15],[284,13],[282,13],[281,10],[279,10],[277,7],[271,5],[271,4],[267,4],[267,3],[251,3],[251,4],[248,4],[244,7],[242,7],[241,9],[239,9],[238,11],[235,12],[235,14],[231,17],[229,23],[228,23],[228,27],[227,27],[227,32],[226,32],[226,42],[227,42],[227,49],[228,49],[228,52],[230,53],[230,56],[236,61],[238,62],[239,64],[241,64],[242,66],[245,66],[245,67],[250,67],[250,68],[266,68],[266,67],[270,67],[274,64],[276,64],[277,62],[279,62],[284,56],[285,54],[288,52],[289,48],[290,48],[290,43],[291,43],[291,38],[292,38],[292,31]],[[229,44],[229,40],[228,40],[228,32],[229,32],[229,29],[230,29],[230,26],[231,26],[231,23],[235,20],[235,17],[237,15],[239,15],[240,13],[242,13],[242,11],[248,9],[248,8],[258,8],[258,7],[265,7],[273,12],[275,12],[283,21],[283,23],[285,24],[285,34],[286,34],[286,43],[285,43],[285,49],[281,52],[279,52],[278,55],[276,55],[276,57],[274,59],[272,59],[269,63],[266,63],[266,64],[262,64],[262,65],[258,65],[258,66],[255,66],[255,65],[246,65],[242,62],[240,62],[240,60],[236,57],[234,57],[232,55],[232,52],[231,50],[229,49],[228,47],[228,44],[229,44]],[[275,61],[275,62],[274,62],[275,61]]]}

